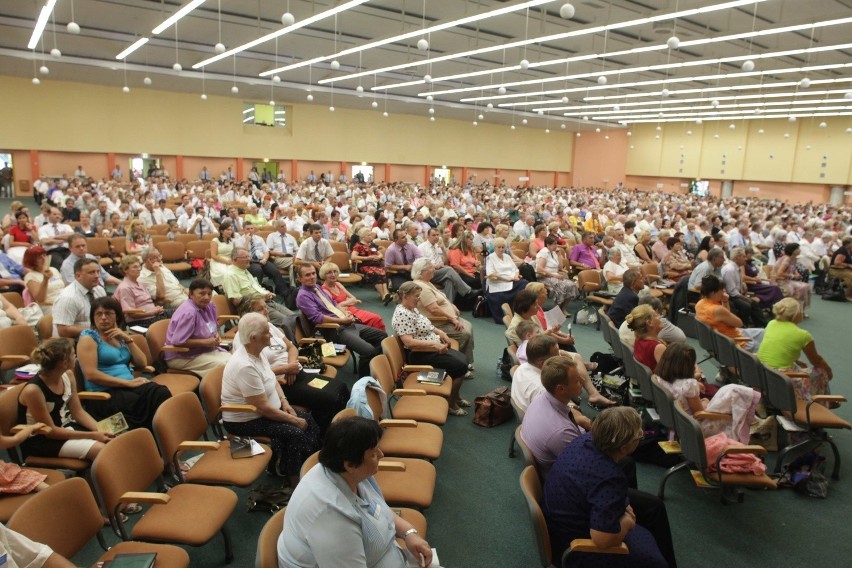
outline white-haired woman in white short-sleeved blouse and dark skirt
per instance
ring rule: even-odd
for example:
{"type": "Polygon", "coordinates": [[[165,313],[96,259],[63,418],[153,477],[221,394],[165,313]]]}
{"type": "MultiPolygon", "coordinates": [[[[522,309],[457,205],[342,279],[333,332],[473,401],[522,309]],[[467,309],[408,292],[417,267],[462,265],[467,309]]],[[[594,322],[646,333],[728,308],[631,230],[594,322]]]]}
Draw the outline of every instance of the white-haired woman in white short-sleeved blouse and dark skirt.
{"type": "Polygon", "coordinates": [[[305,410],[294,410],[262,355],[270,347],[269,320],[251,312],[240,318],[237,348],[222,374],[222,404],[250,404],[252,412],[223,412],[225,429],[236,436],[270,438],[272,473],[295,487],[299,468],[319,447],[319,426],[305,410]]]}

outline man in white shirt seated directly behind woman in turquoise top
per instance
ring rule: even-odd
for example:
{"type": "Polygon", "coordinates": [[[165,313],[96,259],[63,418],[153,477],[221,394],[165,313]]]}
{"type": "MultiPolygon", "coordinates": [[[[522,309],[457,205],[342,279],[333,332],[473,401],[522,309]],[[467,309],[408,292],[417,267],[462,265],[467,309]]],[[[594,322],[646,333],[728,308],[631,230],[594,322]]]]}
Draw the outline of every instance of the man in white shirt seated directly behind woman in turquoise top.
{"type": "Polygon", "coordinates": [[[91,327],[92,302],[106,296],[100,282],[100,264],[92,258],[74,263],[74,282],[57,296],[53,304],[53,335],[77,339],[91,327]]]}

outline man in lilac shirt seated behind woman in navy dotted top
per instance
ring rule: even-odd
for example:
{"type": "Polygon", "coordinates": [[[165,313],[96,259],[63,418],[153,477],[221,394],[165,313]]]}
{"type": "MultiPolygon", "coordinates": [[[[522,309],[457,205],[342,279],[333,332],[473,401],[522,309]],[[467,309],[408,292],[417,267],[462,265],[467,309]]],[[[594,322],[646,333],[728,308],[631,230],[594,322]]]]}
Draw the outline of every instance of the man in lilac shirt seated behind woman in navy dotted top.
{"type": "Polygon", "coordinates": [[[570,357],[551,357],[541,368],[539,393],[527,408],[521,423],[521,438],[530,448],[539,465],[542,477],[574,438],[585,434],[586,429],[578,424],[589,423],[579,410],[568,403],[583,391],[583,378],[577,372],[577,364],[570,357]]]}

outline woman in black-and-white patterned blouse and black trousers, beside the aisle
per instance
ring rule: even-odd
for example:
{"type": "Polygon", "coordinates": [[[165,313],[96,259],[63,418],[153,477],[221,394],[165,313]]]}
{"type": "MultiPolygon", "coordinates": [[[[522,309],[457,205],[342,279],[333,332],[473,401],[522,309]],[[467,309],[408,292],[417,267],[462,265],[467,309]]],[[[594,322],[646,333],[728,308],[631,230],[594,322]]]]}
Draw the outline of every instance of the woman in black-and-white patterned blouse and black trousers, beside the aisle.
{"type": "Polygon", "coordinates": [[[461,385],[466,376],[473,376],[469,361],[460,351],[450,349],[447,334],[432,325],[429,318],[420,313],[417,305],[422,294],[416,282],[405,282],[397,291],[397,307],[393,312],[391,326],[394,334],[408,350],[408,362],[413,365],[432,365],[446,371],[452,381],[450,391],[450,414],[467,416],[465,408],[470,402],[461,398],[461,385]]]}

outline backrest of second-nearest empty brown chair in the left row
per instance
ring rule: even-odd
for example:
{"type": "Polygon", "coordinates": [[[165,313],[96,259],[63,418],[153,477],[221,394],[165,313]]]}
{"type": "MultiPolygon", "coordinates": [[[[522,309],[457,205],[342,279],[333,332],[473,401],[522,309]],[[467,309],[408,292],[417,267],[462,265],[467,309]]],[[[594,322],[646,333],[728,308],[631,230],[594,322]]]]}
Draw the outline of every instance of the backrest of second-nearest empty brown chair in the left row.
{"type": "Polygon", "coordinates": [[[163,461],[150,430],[137,428],[116,436],[92,463],[95,494],[111,518],[121,496],[147,491],[163,473],[163,461]]]}

